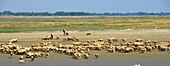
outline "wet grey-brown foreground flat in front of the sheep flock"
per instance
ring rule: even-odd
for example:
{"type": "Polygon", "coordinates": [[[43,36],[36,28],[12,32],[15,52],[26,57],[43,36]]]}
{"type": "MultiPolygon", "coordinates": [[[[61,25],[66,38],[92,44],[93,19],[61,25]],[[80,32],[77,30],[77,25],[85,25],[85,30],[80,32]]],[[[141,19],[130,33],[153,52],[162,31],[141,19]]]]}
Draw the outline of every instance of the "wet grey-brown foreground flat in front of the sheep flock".
{"type": "Polygon", "coordinates": [[[170,66],[170,54],[168,52],[134,53],[106,53],[100,52],[100,57],[95,59],[93,54],[89,59],[75,60],[71,56],[51,53],[48,58],[36,58],[31,62],[18,63],[18,55],[8,58],[8,54],[0,54],[0,66],[133,66],[140,63],[141,66],[170,66]]]}

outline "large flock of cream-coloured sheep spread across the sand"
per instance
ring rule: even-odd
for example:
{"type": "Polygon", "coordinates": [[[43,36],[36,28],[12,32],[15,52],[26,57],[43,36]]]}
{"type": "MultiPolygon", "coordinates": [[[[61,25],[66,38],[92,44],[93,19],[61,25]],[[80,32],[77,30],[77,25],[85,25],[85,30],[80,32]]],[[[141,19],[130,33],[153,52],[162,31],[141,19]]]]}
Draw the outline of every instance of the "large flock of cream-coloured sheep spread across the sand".
{"type": "MultiPolygon", "coordinates": [[[[87,34],[91,35],[91,34],[87,34]]],[[[54,39],[53,35],[42,37],[43,40],[54,39]]],[[[57,37],[57,39],[60,39],[57,37]]],[[[134,41],[126,41],[125,38],[118,40],[115,37],[109,37],[108,39],[87,40],[86,42],[80,42],[76,37],[66,36],[63,41],[71,41],[71,44],[58,44],[57,42],[41,42],[38,44],[32,44],[31,47],[22,47],[14,44],[18,39],[11,39],[8,43],[0,43],[0,52],[10,54],[11,57],[16,55],[24,55],[25,58],[48,57],[50,52],[56,52],[60,54],[66,54],[72,56],[74,59],[88,59],[91,54],[90,51],[107,50],[107,52],[151,52],[153,50],[158,51],[170,51],[170,42],[150,41],[144,39],[135,39],[134,41]]],[[[94,55],[95,58],[99,58],[100,54],[94,55]]],[[[23,62],[23,56],[20,57],[19,62],[23,62]]],[[[137,65],[136,65],[137,66],[137,65]]],[[[140,65],[138,65],[140,66],[140,65]]]]}

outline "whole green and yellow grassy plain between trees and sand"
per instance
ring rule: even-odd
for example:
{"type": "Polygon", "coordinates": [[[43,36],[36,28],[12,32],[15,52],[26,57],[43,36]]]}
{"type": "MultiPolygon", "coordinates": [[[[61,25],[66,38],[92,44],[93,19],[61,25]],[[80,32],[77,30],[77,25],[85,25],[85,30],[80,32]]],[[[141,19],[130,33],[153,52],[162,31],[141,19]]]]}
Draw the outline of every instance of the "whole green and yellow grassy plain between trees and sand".
{"type": "Polygon", "coordinates": [[[0,32],[170,29],[170,16],[0,17],[0,32]]]}

